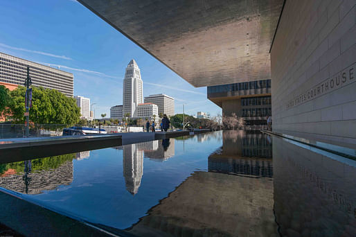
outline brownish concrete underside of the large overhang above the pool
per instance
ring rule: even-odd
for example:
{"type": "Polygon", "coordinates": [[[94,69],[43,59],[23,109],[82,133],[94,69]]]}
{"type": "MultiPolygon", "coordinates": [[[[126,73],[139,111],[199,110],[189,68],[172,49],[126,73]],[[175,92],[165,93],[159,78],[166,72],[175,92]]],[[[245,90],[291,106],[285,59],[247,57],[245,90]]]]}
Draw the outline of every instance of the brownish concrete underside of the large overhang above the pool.
{"type": "Polygon", "coordinates": [[[195,87],[271,78],[284,0],[78,1],[195,87]]]}

